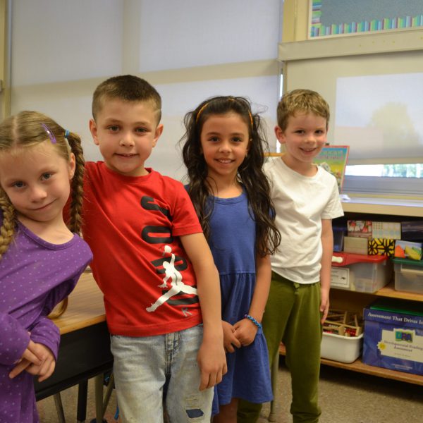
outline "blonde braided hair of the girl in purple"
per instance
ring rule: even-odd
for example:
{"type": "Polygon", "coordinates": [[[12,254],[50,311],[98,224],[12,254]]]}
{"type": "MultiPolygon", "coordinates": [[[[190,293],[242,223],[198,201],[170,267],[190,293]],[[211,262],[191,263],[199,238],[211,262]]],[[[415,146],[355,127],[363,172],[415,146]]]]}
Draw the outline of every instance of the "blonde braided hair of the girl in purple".
{"type": "MultiPolygon", "coordinates": [[[[72,232],[79,234],[85,166],[80,137],[75,133],[66,133],[53,119],[37,111],[21,111],[0,123],[0,154],[16,147],[31,148],[48,139],[66,161],[71,160],[71,152],[75,155],[75,175],[71,182],[70,218],[67,224],[72,232]]],[[[16,210],[1,187],[0,208],[3,211],[3,223],[0,227],[1,259],[13,240],[17,224],[16,210]]]]}

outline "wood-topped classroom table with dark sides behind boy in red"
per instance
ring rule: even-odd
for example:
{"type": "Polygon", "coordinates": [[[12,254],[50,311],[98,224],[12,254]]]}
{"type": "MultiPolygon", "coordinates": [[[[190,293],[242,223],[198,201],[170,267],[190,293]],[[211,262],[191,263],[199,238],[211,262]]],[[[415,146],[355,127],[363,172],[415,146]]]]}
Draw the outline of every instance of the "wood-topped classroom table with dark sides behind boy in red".
{"type": "Polygon", "coordinates": [[[91,273],[82,274],[69,295],[66,312],[53,321],[61,333],[59,358],[54,374],[49,379],[41,383],[35,379],[35,396],[37,400],[42,400],[78,384],[77,420],[84,422],[87,381],[97,376],[96,419],[102,422],[103,374],[111,371],[113,356],[110,352],[103,295],[91,273]]]}

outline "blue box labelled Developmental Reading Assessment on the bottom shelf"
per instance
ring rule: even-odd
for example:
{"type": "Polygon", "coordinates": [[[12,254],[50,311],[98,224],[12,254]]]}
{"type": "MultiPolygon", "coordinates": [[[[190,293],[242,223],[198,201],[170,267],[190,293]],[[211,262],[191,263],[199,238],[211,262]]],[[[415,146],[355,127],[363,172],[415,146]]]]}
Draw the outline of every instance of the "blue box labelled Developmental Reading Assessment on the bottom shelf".
{"type": "Polygon", "coordinates": [[[423,312],[412,302],[376,300],[364,309],[364,364],[423,374],[423,312]]]}

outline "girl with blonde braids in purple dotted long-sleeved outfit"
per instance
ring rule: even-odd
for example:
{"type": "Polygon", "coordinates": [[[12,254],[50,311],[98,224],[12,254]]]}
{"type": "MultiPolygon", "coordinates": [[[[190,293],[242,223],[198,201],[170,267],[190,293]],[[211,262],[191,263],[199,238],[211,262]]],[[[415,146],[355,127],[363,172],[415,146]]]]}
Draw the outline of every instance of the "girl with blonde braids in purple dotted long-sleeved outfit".
{"type": "Polygon", "coordinates": [[[39,422],[33,375],[51,376],[60,341],[47,316],[92,259],[75,234],[83,169],[80,138],[51,118],[23,111],[0,124],[0,422],[39,422]]]}

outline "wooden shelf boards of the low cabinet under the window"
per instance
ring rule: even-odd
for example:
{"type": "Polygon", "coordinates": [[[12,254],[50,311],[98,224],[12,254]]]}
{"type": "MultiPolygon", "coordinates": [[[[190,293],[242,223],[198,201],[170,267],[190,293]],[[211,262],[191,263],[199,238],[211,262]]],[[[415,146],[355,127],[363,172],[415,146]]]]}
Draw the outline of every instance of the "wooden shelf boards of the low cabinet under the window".
{"type": "MultiPolygon", "coordinates": [[[[360,197],[352,198],[348,202],[343,202],[343,209],[345,212],[344,219],[367,219],[374,221],[405,221],[423,219],[423,201],[421,200],[374,200],[369,197],[360,197]]],[[[330,297],[331,307],[362,313],[362,309],[376,298],[390,297],[419,301],[422,302],[423,308],[423,294],[400,292],[395,290],[393,285],[393,281],[391,281],[391,283],[374,294],[332,288],[330,297]]],[[[284,353],[283,346],[281,346],[281,353],[284,353]]],[[[372,374],[373,376],[380,376],[386,379],[396,379],[398,381],[423,386],[422,375],[369,366],[362,363],[361,357],[351,364],[335,362],[324,358],[321,359],[321,362],[322,364],[339,367],[341,369],[348,369],[353,372],[372,374]]]]}

